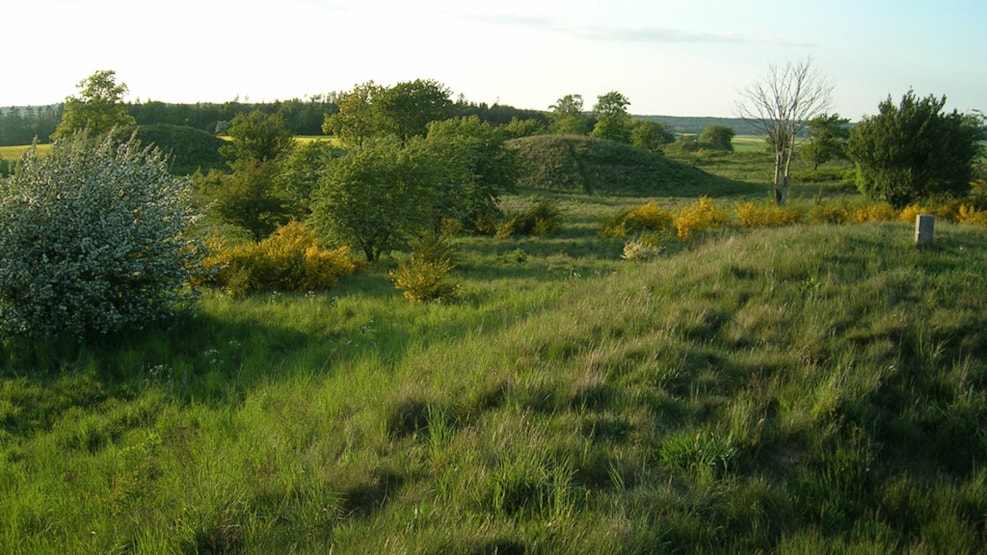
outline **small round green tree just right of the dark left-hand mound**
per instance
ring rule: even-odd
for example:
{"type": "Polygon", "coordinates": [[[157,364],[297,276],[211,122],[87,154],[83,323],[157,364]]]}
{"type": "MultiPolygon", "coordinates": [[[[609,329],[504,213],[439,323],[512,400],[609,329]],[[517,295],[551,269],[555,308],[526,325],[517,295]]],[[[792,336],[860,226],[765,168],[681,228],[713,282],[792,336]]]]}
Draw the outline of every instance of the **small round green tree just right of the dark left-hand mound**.
{"type": "Polygon", "coordinates": [[[237,114],[227,134],[232,142],[220,149],[236,169],[238,165],[272,162],[287,154],[295,144],[294,135],[284,125],[281,114],[253,110],[237,114]]]}

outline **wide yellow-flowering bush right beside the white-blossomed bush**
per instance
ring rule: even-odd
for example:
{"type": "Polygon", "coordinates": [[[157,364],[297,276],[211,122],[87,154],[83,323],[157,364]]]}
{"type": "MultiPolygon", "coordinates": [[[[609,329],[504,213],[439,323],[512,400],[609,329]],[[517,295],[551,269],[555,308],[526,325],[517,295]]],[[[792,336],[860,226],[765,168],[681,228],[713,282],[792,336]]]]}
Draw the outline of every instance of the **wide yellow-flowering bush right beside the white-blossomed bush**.
{"type": "Polygon", "coordinates": [[[233,296],[250,291],[323,291],[356,271],[347,247],[325,248],[315,231],[290,222],[260,243],[213,241],[199,282],[233,296]]]}

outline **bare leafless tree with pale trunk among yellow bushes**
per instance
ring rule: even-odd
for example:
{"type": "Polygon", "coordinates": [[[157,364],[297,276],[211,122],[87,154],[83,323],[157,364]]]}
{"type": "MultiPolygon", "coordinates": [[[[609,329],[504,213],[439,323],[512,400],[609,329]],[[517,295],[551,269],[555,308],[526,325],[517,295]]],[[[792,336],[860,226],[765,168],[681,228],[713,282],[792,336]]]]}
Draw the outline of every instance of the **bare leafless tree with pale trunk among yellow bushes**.
{"type": "Polygon", "coordinates": [[[788,177],[795,140],[810,119],[822,115],[832,102],[833,84],[812,60],[770,66],[761,80],[741,92],[740,117],[755,126],[774,148],[774,193],[778,205],[788,197],[788,177]]]}

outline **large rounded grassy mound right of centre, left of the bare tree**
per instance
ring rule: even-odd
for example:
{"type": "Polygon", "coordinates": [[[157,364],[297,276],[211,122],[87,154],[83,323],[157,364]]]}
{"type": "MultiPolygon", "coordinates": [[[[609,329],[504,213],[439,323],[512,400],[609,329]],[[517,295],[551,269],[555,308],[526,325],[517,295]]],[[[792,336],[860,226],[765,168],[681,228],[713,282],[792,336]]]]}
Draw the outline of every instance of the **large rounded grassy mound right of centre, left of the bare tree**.
{"type": "Polygon", "coordinates": [[[581,135],[537,135],[510,142],[523,169],[519,185],[570,193],[719,196],[750,185],[716,177],[630,145],[581,135]]]}

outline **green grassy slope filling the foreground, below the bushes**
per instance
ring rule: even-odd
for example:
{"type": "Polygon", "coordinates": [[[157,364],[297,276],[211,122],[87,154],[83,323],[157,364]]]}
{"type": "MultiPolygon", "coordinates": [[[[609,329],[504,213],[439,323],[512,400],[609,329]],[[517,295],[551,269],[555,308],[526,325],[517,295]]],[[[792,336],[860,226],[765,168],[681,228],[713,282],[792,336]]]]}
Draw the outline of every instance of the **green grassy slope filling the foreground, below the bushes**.
{"type": "Polygon", "coordinates": [[[207,295],[106,355],[7,346],[0,546],[982,551],[987,237],[937,234],[738,231],[629,264],[585,224],[464,242],[457,305],[381,273],[207,295]]]}

